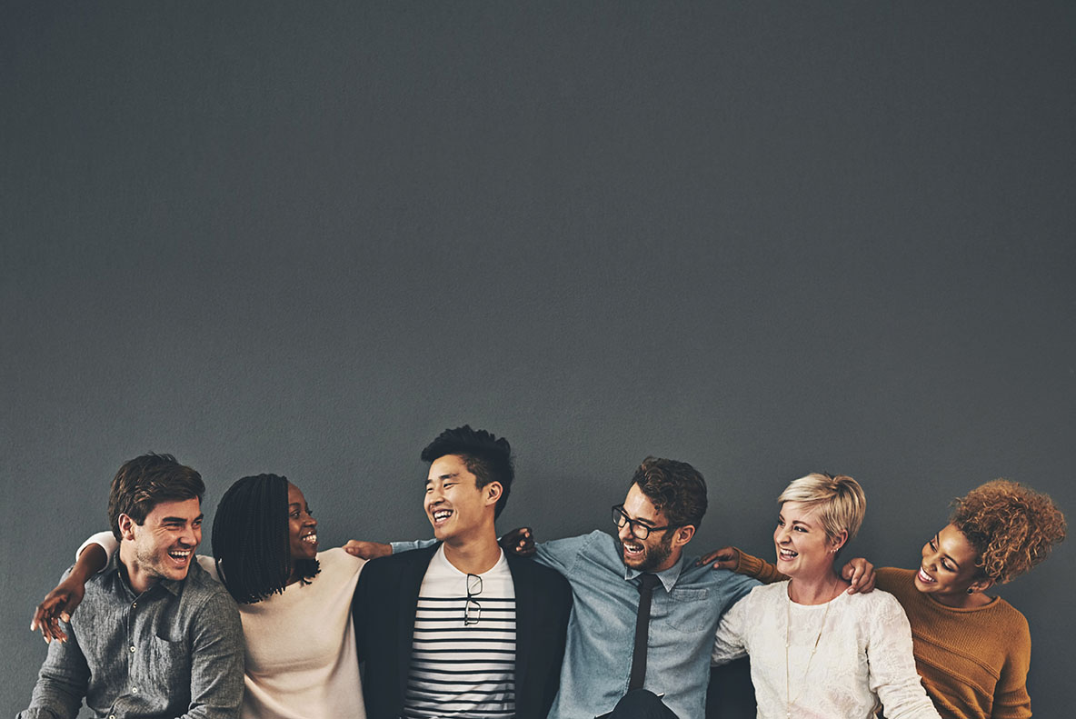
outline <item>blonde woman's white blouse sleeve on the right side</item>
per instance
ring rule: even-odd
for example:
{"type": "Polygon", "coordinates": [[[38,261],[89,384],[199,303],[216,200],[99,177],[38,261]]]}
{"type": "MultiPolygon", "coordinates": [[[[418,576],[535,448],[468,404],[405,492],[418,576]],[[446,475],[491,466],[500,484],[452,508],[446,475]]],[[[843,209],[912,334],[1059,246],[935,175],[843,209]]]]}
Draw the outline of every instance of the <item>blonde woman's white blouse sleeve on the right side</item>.
{"type": "Polygon", "coordinates": [[[867,617],[867,681],[888,719],[939,719],[926,696],[911,655],[911,628],[892,594],[876,591],[878,606],[867,617]]]}

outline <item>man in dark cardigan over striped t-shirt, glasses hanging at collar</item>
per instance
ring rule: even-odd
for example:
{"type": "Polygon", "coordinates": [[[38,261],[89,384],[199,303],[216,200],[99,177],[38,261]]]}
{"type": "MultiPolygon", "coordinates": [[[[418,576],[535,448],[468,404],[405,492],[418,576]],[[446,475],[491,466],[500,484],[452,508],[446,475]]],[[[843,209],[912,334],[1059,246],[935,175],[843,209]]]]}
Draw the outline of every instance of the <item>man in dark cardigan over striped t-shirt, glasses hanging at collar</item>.
{"type": "Polygon", "coordinates": [[[369,719],[543,719],[556,694],[571,591],[506,554],[494,520],[514,471],[504,438],[447,429],[422,451],[437,542],[369,562],[354,617],[369,719]]]}

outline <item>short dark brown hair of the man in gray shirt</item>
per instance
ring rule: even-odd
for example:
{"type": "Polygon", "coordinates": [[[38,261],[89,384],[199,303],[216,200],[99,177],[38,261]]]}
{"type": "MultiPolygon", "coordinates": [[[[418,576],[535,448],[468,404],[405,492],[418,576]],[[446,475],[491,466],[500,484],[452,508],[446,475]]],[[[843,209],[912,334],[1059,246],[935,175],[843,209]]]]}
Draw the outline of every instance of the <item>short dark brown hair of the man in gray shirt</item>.
{"type": "Polygon", "coordinates": [[[116,539],[119,516],[127,514],[142,524],[161,502],[198,499],[206,494],[201,475],[175,461],[171,454],[143,454],[128,460],[112,479],[109,491],[109,523],[116,539]]]}

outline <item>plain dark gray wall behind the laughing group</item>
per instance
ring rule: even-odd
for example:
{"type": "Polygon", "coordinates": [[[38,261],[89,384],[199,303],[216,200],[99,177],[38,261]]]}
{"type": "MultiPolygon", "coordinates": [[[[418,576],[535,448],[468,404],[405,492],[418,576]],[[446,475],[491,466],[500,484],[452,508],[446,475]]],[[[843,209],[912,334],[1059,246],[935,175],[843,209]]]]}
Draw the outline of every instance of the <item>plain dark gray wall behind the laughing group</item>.
{"type": "MultiPolygon", "coordinates": [[[[914,567],[999,476],[1076,510],[1072,3],[4,3],[0,705],[147,450],[428,535],[422,446],[510,438],[501,528],[647,454],[697,552],[851,474],[914,567]]],[[[209,539],[206,547],[208,551],[209,539]]],[[[1070,542],[1071,544],[1071,542],[1070,542]]],[[[1076,554],[1000,593],[1071,705],[1076,554]]]]}

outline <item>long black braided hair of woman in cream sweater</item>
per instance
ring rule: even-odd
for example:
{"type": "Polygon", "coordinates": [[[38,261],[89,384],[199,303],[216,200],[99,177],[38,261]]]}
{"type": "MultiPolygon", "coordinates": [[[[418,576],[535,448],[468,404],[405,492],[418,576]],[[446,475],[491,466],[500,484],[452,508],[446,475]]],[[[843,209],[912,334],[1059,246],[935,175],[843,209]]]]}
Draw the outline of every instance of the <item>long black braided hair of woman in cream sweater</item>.
{"type": "MultiPolygon", "coordinates": [[[[239,604],[283,593],[292,576],[287,478],[243,477],[228,488],[213,517],[216,573],[239,604]]],[[[297,564],[302,581],[321,570],[317,560],[297,564]]]]}

